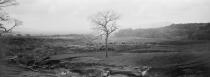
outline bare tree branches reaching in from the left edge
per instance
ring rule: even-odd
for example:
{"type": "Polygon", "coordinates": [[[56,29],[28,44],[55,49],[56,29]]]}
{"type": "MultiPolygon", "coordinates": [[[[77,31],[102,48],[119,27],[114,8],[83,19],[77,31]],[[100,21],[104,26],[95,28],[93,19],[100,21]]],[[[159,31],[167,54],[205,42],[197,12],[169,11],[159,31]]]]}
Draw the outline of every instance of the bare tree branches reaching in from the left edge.
{"type": "Polygon", "coordinates": [[[0,35],[2,33],[11,32],[16,26],[21,25],[22,22],[11,18],[8,13],[4,11],[4,7],[16,5],[16,0],[0,0],[0,35]],[[8,27],[7,25],[12,25],[8,27]]]}

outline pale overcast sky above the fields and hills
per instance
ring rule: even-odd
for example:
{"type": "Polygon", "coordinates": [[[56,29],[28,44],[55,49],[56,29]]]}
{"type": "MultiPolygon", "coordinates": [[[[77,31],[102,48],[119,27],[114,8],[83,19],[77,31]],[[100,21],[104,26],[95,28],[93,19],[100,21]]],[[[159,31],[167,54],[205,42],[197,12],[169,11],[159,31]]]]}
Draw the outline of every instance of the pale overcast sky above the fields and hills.
{"type": "Polygon", "coordinates": [[[35,34],[89,33],[90,15],[114,10],[120,28],[153,28],[171,23],[210,22],[210,0],[17,0],[10,15],[16,31],[35,34]]]}

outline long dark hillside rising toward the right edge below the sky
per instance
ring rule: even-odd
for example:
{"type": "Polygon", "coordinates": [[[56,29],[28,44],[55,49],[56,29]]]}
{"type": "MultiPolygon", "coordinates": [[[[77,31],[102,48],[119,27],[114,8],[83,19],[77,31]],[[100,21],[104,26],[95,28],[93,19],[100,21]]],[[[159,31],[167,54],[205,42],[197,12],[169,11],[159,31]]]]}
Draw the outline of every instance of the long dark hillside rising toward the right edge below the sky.
{"type": "Polygon", "coordinates": [[[150,29],[122,29],[116,37],[210,40],[210,23],[171,24],[150,29]]]}

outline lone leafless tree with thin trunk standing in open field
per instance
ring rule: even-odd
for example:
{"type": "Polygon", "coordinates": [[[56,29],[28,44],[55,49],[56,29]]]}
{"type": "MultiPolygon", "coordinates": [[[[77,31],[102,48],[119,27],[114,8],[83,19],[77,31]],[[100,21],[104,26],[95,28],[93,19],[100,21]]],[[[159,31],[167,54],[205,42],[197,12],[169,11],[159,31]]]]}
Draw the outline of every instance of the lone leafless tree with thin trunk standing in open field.
{"type": "Polygon", "coordinates": [[[91,21],[96,25],[96,29],[105,36],[106,57],[108,57],[108,40],[110,35],[118,29],[116,21],[119,17],[120,16],[113,11],[98,12],[91,17],[91,21]]]}

